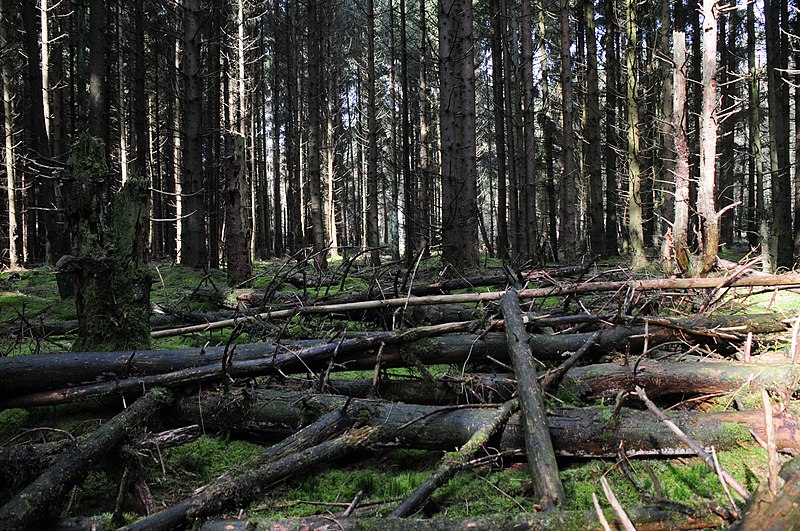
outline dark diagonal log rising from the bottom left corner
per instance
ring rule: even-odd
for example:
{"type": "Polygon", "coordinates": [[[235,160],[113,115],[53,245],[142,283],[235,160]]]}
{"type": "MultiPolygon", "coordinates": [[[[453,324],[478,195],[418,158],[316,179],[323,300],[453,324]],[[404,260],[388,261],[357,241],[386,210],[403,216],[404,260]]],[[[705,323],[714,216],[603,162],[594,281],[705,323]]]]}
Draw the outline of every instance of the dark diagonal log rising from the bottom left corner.
{"type": "Polygon", "coordinates": [[[35,522],[50,516],[64,501],[65,493],[82,480],[94,464],[172,400],[171,392],[153,389],[68,450],[36,481],[0,508],[0,529],[30,529],[35,522]]]}

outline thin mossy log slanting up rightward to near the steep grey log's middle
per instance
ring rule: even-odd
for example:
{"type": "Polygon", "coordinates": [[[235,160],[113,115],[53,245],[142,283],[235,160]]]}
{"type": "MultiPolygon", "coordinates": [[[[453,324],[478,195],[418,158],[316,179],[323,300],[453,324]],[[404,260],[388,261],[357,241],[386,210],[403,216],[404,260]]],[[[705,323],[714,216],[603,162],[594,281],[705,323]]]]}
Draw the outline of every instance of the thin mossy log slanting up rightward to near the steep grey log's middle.
{"type": "Polygon", "coordinates": [[[422,482],[419,487],[414,489],[414,491],[392,511],[391,516],[394,518],[403,518],[422,508],[431,494],[433,494],[437,488],[450,481],[450,478],[467,464],[472,456],[487,443],[489,438],[508,422],[511,414],[518,408],[519,403],[516,400],[503,404],[503,407],[500,408],[492,422],[475,432],[475,434],[470,437],[469,441],[467,441],[455,455],[446,454],[434,473],[422,482]]]}

